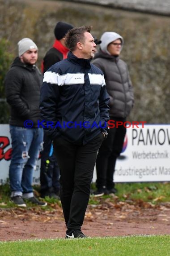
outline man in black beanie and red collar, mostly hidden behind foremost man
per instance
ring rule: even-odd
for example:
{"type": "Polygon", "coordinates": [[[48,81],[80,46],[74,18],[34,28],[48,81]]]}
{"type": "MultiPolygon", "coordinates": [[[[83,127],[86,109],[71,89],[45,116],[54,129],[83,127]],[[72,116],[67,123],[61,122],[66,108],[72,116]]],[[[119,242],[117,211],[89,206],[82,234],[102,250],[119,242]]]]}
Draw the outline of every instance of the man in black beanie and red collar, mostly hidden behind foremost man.
{"type": "MultiPolygon", "coordinates": [[[[58,22],[54,29],[55,42],[53,47],[46,53],[42,62],[42,72],[45,73],[53,64],[67,58],[68,48],[66,47],[65,34],[73,26],[66,22],[58,22]]],[[[59,167],[57,159],[53,154],[51,140],[44,133],[44,150],[41,155],[40,171],[40,193],[41,197],[53,197],[59,199],[59,167]]]]}

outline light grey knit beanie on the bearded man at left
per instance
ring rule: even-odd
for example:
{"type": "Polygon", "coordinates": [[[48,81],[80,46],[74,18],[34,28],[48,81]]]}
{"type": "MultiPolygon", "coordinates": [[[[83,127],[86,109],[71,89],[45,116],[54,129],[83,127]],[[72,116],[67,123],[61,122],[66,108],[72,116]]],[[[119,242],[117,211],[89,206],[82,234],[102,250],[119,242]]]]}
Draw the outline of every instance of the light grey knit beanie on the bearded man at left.
{"type": "Polygon", "coordinates": [[[30,38],[23,38],[18,42],[18,56],[20,57],[23,53],[30,49],[38,50],[37,45],[30,38]]]}

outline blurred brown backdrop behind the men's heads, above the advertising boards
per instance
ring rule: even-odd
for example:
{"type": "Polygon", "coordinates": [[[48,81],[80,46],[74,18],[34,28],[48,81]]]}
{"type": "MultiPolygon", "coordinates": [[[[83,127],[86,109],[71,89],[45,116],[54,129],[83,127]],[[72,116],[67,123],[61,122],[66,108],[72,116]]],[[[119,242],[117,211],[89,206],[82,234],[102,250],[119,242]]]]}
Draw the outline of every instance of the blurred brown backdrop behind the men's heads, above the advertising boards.
{"type": "Polygon", "coordinates": [[[135,106],[128,120],[169,123],[169,16],[59,0],[0,0],[0,38],[11,44],[6,50],[17,56],[17,42],[30,37],[38,45],[38,67],[52,47],[54,27],[59,21],[92,25],[97,38],[104,31],[122,35],[125,44],[121,58],[127,62],[135,93],[135,106]]]}

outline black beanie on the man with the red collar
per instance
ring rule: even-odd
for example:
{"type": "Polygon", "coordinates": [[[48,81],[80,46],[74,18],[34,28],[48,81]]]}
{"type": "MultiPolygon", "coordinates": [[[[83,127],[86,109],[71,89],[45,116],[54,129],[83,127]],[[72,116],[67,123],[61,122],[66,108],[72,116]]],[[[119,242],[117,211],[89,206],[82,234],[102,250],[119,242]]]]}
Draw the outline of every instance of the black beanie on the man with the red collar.
{"type": "Polygon", "coordinates": [[[54,34],[55,34],[55,38],[57,40],[60,40],[62,39],[65,34],[71,30],[73,28],[73,26],[69,23],[66,23],[66,22],[58,22],[55,26],[55,29],[54,29],[54,34]]]}

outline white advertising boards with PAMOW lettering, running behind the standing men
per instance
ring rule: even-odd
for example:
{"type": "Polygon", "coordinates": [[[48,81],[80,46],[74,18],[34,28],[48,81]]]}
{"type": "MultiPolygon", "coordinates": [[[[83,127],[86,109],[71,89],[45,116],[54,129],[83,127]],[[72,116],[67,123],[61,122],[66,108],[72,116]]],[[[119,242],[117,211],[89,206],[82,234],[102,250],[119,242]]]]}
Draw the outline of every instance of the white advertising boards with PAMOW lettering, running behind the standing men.
{"type": "MultiPolygon", "coordinates": [[[[0,125],[0,184],[9,177],[11,137],[9,125],[0,125]]],[[[94,170],[93,181],[96,181],[94,170]]],[[[170,181],[170,125],[144,124],[127,128],[116,163],[115,182],[170,181]]],[[[40,182],[40,160],[33,184],[40,182]]]]}

